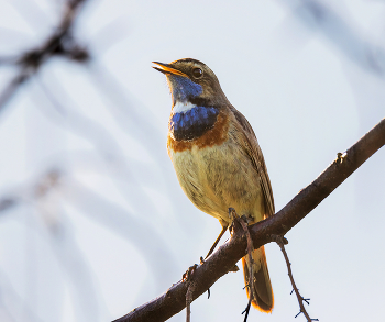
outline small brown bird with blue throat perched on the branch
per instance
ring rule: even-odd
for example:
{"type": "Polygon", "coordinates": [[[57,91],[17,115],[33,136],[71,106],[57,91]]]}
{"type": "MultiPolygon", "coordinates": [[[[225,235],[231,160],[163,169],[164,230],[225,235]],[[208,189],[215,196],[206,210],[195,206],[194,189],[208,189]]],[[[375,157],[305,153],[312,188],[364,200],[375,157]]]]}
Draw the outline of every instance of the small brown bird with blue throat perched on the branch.
{"type": "MultiPolygon", "coordinates": [[[[232,222],[229,209],[249,225],[275,213],[272,185],[255,133],[246,118],[226,97],[216,74],[204,63],[183,58],[153,62],[165,74],[172,95],[167,152],[179,185],[189,200],[222,225],[219,240],[232,222]]],[[[248,297],[262,312],[272,312],[274,296],[264,246],[242,266],[248,297]],[[252,286],[249,271],[253,271],[252,286]],[[253,292],[250,288],[253,287],[253,292]]]]}

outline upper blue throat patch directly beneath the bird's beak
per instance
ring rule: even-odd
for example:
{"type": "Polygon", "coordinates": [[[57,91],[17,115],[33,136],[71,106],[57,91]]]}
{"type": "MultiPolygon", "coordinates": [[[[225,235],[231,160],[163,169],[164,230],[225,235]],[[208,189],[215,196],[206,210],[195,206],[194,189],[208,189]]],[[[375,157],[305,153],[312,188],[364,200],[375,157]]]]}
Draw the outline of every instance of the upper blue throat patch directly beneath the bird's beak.
{"type": "Polygon", "coordinates": [[[189,98],[198,97],[202,93],[202,87],[194,82],[188,77],[178,75],[167,75],[173,91],[174,104],[176,101],[187,101],[189,98]]]}

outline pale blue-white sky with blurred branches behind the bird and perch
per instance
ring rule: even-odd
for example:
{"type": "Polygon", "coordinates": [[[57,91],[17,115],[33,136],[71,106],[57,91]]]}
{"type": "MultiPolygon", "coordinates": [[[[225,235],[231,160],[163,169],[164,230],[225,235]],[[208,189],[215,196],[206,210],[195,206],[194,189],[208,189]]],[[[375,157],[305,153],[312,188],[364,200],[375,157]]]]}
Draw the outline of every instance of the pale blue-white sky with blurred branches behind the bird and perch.
{"type": "MultiPolygon", "coordinates": [[[[258,137],[276,210],[384,118],[384,1],[0,8],[3,322],[117,319],[177,282],[219,234],[174,174],[169,91],[151,62],[193,57],[217,74],[258,137]]],[[[384,166],[383,148],[287,234],[311,318],[383,317],[384,166]]],[[[249,321],[305,321],[280,251],[266,253],[275,309],[249,321]]],[[[243,286],[241,271],[222,277],[193,321],[243,321],[243,286]]]]}

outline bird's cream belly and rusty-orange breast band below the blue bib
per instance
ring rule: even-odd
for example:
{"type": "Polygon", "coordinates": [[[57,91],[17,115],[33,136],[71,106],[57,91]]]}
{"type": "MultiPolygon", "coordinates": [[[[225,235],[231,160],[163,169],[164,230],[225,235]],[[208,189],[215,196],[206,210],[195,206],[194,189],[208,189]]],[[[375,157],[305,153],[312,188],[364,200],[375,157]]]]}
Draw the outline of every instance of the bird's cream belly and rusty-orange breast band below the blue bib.
{"type": "Polygon", "coordinates": [[[221,111],[215,126],[193,141],[168,136],[168,154],[183,190],[201,211],[222,223],[229,222],[229,207],[262,220],[260,176],[229,119],[221,111]]]}

